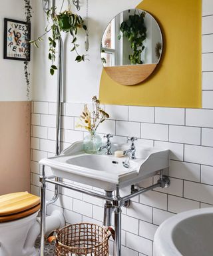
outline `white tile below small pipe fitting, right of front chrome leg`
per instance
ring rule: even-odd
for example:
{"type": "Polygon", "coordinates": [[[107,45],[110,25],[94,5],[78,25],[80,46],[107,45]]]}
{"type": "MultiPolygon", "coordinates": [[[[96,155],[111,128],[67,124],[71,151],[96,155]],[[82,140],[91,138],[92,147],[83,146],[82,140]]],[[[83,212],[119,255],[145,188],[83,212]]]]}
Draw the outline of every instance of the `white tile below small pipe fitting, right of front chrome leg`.
{"type": "Polygon", "coordinates": [[[142,221],[152,222],[152,207],[131,201],[130,207],[126,208],[126,215],[142,221]]]}

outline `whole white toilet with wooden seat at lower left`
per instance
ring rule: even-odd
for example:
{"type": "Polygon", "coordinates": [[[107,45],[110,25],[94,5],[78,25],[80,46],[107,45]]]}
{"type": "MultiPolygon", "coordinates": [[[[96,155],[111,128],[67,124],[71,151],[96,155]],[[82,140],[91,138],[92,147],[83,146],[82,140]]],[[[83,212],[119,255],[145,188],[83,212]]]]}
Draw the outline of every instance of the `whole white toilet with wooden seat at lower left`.
{"type": "Polygon", "coordinates": [[[0,256],[39,255],[33,241],[39,231],[33,229],[39,228],[40,205],[40,197],[28,192],[0,196],[0,256]]]}

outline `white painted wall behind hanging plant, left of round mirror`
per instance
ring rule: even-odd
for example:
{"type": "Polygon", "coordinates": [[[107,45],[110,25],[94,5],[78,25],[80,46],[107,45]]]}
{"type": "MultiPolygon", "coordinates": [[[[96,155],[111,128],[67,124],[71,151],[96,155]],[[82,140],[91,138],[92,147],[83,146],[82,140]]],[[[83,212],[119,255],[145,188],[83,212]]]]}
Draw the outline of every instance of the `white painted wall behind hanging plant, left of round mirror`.
{"type": "MultiPolygon", "coordinates": [[[[66,1],[65,1],[66,2],[66,1]]],[[[103,32],[108,22],[120,11],[134,8],[141,0],[89,0],[89,59],[85,63],[76,63],[75,54],[70,52],[71,43],[69,37],[65,39],[65,101],[88,102],[93,95],[99,93],[102,63],[100,46],[103,32]]],[[[86,0],[81,1],[79,15],[86,15],[86,0]]],[[[59,5],[60,6],[60,5],[59,5]]],[[[35,2],[35,38],[41,35],[45,28],[45,13],[43,13],[41,1],[35,2]]],[[[73,7],[73,11],[75,7],[73,7]]],[[[78,37],[79,38],[79,37],[78,37]]],[[[84,53],[84,33],[81,33],[79,43],[84,53]]],[[[40,44],[35,49],[33,69],[33,100],[56,101],[57,75],[49,74],[50,61],[47,59],[48,42],[40,44]]]]}

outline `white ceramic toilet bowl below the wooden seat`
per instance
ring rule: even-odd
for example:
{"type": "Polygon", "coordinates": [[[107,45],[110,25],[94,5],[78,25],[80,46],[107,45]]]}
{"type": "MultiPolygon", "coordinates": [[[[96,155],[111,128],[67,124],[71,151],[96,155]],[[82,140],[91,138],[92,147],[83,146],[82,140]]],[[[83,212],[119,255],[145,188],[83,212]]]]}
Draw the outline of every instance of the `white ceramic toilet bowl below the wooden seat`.
{"type": "Polygon", "coordinates": [[[37,256],[35,247],[29,246],[28,234],[37,222],[37,212],[18,219],[0,223],[0,256],[37,256]]]}

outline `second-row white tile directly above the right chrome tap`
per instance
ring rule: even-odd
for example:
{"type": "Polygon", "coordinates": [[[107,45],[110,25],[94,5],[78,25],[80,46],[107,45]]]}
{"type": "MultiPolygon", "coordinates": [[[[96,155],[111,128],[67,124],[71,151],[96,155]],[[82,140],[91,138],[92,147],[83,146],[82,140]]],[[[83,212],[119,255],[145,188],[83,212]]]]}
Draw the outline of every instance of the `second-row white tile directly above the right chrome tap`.
{"type": "Polygon", "coordinates": [[[116,121],[116,135],[140,137],[140,123],[116,121]]]}

